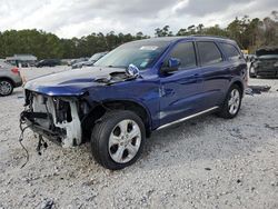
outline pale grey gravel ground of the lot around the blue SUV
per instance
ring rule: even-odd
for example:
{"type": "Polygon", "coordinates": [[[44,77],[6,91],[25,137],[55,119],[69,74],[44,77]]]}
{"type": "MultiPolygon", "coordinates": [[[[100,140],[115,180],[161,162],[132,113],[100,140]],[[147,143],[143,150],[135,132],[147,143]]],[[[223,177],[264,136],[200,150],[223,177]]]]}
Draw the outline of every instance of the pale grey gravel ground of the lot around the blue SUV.
{"type": "MultiPolygon", "coordinates": [[[[67,67],[24,69],[27,79],[67,67]]],[[[36,152],[31,131],[18,137],[22,89],[0,98],[0,208],[278,208],[278,80],[246,96],[239,116],[195,119],[153,132],[141,159],[109,171],[88,145],[36,152]]]]}

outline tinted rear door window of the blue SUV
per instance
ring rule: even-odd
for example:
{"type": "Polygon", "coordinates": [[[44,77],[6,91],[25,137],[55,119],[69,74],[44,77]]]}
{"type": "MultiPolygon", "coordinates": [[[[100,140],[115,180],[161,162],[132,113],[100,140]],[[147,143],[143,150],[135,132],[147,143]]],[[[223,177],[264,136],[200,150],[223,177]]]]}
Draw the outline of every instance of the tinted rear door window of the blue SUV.
{"type": "Polygon", "coordinates": [[[222,56],[215,42],[199,41],[197,42],[200,62],[202,66],[214,64],[222,61],[222,56]]]}

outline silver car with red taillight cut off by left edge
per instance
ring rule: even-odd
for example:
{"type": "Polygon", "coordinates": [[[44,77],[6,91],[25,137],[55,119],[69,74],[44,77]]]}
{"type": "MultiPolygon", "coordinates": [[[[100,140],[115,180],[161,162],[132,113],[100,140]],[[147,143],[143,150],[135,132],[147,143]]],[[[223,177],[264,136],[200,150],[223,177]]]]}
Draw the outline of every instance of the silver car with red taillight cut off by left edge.
{"type": "Polygon", "coordinates": [[[20,71],[4,61],[0,61],[0,96],[9,96],[13,89],[22,84],[20,71]]]}

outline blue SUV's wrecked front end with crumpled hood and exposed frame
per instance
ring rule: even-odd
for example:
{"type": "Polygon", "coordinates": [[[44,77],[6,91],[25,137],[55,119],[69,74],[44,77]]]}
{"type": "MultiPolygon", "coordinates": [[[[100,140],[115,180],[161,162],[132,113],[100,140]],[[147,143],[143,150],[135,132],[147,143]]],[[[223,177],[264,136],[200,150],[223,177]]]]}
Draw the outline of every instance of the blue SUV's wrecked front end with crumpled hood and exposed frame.
{"type": "Polygon", "coordinates": [[[101,104],[98,89],[138,77],[139,69],[130,64],[127,70],[93,68],[72,71],[70,76],[63,72],[31,80],[24,86],[26,109],[20,120],[39,136],[62,147],[79,146],[82,142],[85,119],[95,106],[101,104]],[[87,100],[92,88],[96,88],[93,101],[92,98],[87,100]]]}

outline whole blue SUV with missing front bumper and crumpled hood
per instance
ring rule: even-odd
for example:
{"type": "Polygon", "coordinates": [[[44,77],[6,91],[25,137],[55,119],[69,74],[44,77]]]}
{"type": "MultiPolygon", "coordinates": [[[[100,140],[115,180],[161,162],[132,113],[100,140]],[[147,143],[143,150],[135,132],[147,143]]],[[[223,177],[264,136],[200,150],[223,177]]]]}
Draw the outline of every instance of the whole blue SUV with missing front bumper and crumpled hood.
{"type": "Polygon", "coordinates": [[[93,67],[27,82],[21,123],[62,147],[89,140],[100,165],[122,169],[139,158],[155,130],[210,112],[236,117],[246,81],[247,64],[232,40],[139,40],[93,67]]]}

